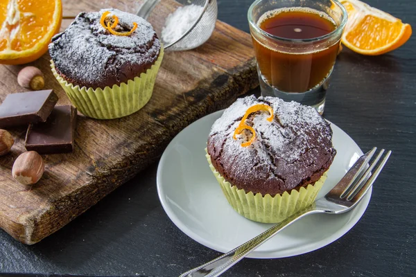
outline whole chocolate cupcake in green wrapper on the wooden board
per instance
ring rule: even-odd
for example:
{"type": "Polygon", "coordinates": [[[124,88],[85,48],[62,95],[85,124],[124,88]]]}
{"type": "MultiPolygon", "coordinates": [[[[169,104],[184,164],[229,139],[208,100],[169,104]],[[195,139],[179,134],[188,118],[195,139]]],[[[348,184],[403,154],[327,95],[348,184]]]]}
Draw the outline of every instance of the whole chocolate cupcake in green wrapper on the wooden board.
{"type": "Polygon", "coordinates": [[[163,52],[148,21],[115,9],[81,12],[49,44],[53,73],[73,105],[105,119],[146,105],[163,52]]]}

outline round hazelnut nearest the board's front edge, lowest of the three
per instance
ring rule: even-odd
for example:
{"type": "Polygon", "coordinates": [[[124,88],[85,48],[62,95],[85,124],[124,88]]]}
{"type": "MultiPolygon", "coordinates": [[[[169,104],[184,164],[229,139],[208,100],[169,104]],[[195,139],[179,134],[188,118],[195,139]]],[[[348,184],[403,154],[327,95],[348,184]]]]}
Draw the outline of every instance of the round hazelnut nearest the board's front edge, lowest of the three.
{"type": "Polygon", "coordinates": [[[17,157],[12,168],[12,175],[16,181],[24,185],[32,185],[40,180],[45,170],[45,164],[35,151],[24,152],[17,157]]]}

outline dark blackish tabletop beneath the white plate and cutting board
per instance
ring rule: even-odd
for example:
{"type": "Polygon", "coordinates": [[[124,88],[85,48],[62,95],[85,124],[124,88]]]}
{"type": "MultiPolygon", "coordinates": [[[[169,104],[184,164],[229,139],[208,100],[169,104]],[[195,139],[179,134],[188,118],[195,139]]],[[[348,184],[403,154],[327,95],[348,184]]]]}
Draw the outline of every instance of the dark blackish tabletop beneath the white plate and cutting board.
{"type": "MultiPolygon", "coordinates": [[[[246,14],[252,1],[220,0],[218,18],[248,32],[246,14]]],[[[415,31],[413,0],[365,2],[401,18],[415,31]]],[[[367,211],[352,230],[327,247],[291,258],[243,259],[223,276],[415,276],[415,92],[415,35],[379,57],[344,48],[333,71],[324,117],[363,151],[373,146],[393,151],[374,184],[367,211]]],[[[250,93],[259,95],[259,90],[250,93]]],[[[157,196],[156,171],[153,163],[37,244],[21,244],[0,230],[0,275],[170,277],[218,257],[220,253],[195,242],[169,220],[157,196]]]]}

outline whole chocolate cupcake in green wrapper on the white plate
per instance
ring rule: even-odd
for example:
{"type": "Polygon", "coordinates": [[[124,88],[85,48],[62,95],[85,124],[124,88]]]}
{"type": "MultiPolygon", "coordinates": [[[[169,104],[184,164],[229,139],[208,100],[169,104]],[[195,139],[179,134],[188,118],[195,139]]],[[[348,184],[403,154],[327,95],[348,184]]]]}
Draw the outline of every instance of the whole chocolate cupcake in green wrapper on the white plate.
{"type": "Polygon", "coordinates": [[[312,107],[248,96],[212,126],[207,158],[237,212],[280,222],[315,201],[336,155],[331,140],[329,123],[312,107]]]}

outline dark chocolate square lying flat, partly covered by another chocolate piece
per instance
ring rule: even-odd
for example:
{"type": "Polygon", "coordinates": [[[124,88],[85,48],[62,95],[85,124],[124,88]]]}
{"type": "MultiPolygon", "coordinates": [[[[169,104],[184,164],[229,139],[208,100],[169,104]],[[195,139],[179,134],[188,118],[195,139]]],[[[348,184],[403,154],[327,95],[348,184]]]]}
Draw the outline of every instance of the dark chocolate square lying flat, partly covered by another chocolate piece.
{"type": "Polygon", "coordinates": [[[76,108],[56,106],[45,123],[29,125],[24,143],[26,150],[40,154],[72,152],[75,127],[76,108]]]}

